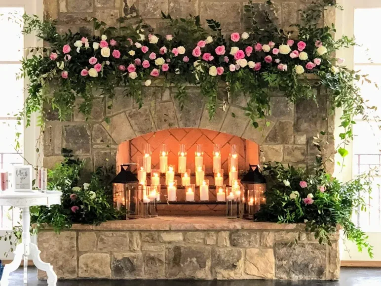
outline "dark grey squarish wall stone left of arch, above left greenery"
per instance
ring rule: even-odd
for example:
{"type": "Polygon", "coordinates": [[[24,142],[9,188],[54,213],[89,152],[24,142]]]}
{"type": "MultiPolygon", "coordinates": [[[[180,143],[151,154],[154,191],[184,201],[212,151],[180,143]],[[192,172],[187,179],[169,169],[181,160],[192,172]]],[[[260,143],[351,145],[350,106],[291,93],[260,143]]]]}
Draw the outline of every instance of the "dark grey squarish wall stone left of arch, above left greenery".
{"type": "Polygon", "coordinates": [[[89,124],[65,125],[63,147],[74,155],[90,154],[90,132],[89,124]]]}

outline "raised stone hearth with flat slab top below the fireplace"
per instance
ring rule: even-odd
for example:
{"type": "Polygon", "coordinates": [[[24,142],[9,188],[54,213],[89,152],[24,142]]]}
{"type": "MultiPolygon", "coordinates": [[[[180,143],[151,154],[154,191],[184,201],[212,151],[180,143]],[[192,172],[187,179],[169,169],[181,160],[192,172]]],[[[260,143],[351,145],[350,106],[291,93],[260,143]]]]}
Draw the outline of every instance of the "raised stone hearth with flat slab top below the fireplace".
{"type": "Polygon", "coordinates": [[[319,245],[303,224],[172,216],[47,229],[38,247],[60,279],[338,280],[338,238],[319,245]]]}

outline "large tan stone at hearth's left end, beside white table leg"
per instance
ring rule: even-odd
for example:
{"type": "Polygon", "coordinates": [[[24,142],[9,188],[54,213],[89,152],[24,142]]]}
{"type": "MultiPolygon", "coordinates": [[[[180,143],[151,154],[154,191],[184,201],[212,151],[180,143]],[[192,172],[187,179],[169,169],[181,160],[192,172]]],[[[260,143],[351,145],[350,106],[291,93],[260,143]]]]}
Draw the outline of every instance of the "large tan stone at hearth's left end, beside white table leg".
{"type": "MultiPolygon", "coordinates": [[[[38,233],[37,241],[41,260],[53,266],[58,278],[77,277],[76,232],[63,231],[56,234],[42,231],[38,233]]],[[[46,279],[46,273],[38,271],[38,278],[46,279]]]]}

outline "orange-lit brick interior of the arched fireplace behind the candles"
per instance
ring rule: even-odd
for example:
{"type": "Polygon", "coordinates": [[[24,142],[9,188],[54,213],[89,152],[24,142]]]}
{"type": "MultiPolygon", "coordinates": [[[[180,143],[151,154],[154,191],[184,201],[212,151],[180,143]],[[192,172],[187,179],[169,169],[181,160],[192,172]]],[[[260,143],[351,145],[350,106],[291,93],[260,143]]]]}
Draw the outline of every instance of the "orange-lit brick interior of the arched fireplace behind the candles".
{"type": "MultiPolygon", "coordinates": [[[[216,170],[214,169],[213,157],[215,155],[215,146],[220,148],[221,156],[221,180],[224,185],[229,186],[229,156],[231,155],[232,146],[236,148],[237,174],[238,179],[244,175],[249,164],[259,163],[259,145],[253,141],[212,130],[201,128],[173,128],[151,132],[137,136],[131,140],[125,141],[118,146],[116,153],[117,172],[120,171],[120,165],[124,163],[139,163],[145,157],[145,149],[149,144],[151,149],[151,168],[157,170],[160,184],[160,204],[157,205],[158,215],[226,215],[226,205],[223,202],[218,202],[218,191],[215,181],[216,170]],[[160,173],[160,156],[162,155],[163,145],[166,148],[167,166],[174,167],[175,184],[177,185],[176,201],[170,201],[167,193],[166,174],[160,173]],[[195,184],[197,179],[197,159],[196,154],[202,148],[204,179],[208,181],[208,201],[202,200],[200,186],[196,186],[194,190],[194,202],[191,204],[182,204],[187,200],[186,186],[182,183],[182,175],[179,171],[179,148],[183,146],[185,150],[182,153],[186,154],[186,169],[190,170],[190,183],[195,184]],[[185,151],[185,152],[184,152],[185,151]],[[201,198],[200,198],[201,195],[201,198]],[[169,202],[168,202],[169,201],[169,202]]],[[[184,154],[183,154],[184,155],[184,154]]],[[[136,174],[137,166],[132,165],[131,170],[136,174]]],[[[147,172],[147,186],[152,183],[151,173],[147,172]]],[[[121,199],[123,186],[114,186],[114,201],[115,205],[121,199]]],[[[189,198],[188,198],[189,199],[189,198]]]]}

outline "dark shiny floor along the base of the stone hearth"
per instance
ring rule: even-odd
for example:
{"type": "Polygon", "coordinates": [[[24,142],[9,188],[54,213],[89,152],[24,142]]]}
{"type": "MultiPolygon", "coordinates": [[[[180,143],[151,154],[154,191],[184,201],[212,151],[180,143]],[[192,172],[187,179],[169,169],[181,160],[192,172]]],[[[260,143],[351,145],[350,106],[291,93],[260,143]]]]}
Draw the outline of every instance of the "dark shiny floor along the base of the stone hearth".
{"type": "MultiPolygon", "coordinates": [[[[28,286],[46,286],[46,281],[37,280],[36,268],[28,269],[28,286]]],[[[23,271],[19,268],[11,274],[9,286],[23,285],[23,271]]],[[[381,286],[381,268],[342,268],[340,281],[179,281],[179,280],[66,280],[57,286],[381,286]]]]}

